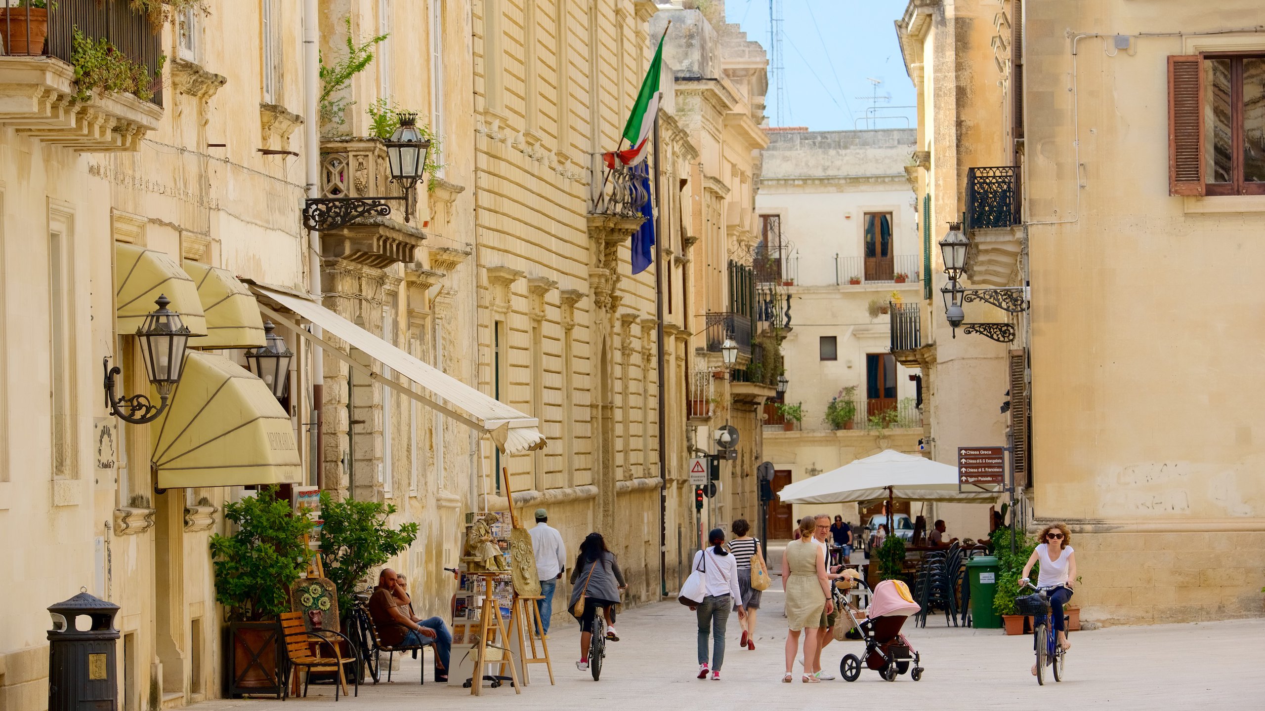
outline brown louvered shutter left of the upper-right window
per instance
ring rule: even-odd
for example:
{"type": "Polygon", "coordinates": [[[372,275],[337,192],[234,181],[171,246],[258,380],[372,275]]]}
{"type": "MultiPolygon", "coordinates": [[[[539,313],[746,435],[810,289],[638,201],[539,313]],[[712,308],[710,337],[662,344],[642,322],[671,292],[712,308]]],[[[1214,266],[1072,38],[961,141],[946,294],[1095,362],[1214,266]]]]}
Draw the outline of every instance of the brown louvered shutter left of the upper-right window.
{"type": "Polygon", "coordinates": [[[1169,57],[1169,195],[1203,195],[1203,66],[1169,57]]]}

